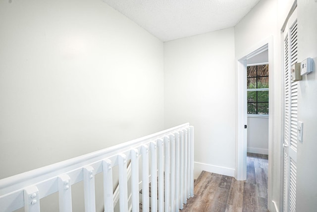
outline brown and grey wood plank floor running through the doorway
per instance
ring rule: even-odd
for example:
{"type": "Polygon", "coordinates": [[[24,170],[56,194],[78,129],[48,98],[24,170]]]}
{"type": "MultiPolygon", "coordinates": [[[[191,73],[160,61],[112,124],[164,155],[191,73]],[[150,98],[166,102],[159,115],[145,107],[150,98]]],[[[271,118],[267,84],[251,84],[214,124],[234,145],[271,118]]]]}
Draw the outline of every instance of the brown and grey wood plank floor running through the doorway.
{"type": "Polygon", "coordinates": [[[248,153],[247,180],[203,171],[183,212],[268,212],[267,155],[248,153]]]}

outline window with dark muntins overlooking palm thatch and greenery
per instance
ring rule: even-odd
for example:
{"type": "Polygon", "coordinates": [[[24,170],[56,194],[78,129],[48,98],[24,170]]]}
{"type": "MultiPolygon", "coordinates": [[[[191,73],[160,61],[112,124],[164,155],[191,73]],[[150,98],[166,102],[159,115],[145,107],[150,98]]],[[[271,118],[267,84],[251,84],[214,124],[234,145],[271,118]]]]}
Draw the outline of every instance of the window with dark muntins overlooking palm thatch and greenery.
{"type": "Polygon", "coordinates": [[[248,115],[268,115],[268,64],[247,67],[248,115]]]}

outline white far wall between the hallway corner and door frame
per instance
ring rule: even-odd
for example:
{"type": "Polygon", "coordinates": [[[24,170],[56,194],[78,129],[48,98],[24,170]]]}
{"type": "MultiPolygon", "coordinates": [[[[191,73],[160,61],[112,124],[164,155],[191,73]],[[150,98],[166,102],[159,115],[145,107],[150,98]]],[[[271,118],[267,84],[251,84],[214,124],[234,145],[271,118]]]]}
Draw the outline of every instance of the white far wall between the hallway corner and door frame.
{"type": "Polygon", "coordinates": [[[233,28],[164,43],[165,127],[195,126],[195,177],[233,176],[235,73],[233,28]]]}

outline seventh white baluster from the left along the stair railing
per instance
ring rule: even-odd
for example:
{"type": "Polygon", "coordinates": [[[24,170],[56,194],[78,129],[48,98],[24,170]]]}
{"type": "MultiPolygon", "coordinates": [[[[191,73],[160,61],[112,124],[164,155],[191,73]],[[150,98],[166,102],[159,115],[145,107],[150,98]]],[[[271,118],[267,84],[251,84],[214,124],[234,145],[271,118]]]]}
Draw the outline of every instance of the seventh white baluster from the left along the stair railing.
{"type": "Polygon", "coordinates": [[[141,146],[142,151],[142,208],[148,211],[149,203],[149,147],[147,145],[141,146]]]}

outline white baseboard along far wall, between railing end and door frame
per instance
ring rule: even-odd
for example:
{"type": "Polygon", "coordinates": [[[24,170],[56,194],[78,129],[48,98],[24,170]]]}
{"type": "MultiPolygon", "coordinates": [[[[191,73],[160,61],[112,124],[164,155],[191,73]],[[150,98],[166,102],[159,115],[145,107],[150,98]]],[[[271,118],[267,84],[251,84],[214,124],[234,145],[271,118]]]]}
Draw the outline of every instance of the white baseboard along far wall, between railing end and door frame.
{"type": "Polygon", "coordinates": [[[197,177],[200,175],[202,171],[208,171],[208,172],[212,172],[216,174],[222,174],[222,175],[234,177],[235,169],[195,162],[194,163],[194,178],[197,179],[197,177]]]}

